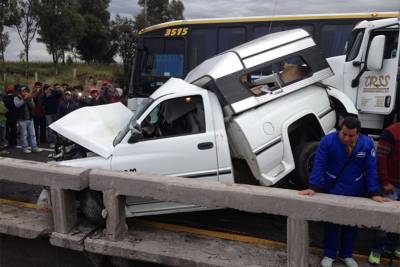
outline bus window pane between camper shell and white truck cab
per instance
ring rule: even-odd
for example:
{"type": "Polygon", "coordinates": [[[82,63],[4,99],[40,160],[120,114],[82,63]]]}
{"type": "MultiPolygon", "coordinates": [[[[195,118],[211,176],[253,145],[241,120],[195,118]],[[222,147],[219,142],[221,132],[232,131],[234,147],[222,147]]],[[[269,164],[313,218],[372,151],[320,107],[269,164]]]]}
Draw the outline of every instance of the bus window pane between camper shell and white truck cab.
{"type": "Polygon", "coordinates": [[[329,24],[322,26],[320,47],[326,58],[344,53],[344,46],[352,28],[352,25],[329,24]]]}

